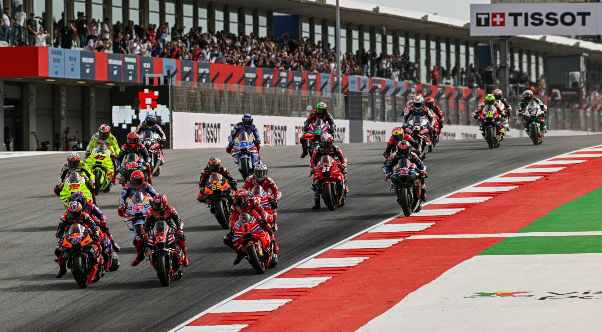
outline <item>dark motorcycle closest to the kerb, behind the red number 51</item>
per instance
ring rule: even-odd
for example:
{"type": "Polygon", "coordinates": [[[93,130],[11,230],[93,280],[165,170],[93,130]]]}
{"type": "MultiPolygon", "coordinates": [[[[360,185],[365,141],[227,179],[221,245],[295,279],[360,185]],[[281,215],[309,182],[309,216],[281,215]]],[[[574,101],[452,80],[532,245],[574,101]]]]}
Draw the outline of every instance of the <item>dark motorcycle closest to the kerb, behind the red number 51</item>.
{"type": "Polygon", "coordinates": [[[414,163],[406,158],[399,160],[393,168],[390,191],[395,191],[397,203],[406,217],[422,209],[420,176],[414,163]]]}

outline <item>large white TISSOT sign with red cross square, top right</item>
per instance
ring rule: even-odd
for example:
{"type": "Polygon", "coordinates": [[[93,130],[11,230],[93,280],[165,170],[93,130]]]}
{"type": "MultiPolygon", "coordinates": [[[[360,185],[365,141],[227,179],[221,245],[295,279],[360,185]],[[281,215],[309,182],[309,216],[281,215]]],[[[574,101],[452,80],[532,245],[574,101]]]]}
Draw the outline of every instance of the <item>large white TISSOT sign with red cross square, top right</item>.
{"type": "Polygon", "coordinates": [[[599,3],[471,4],[470,35],[597,35],[599,3]]]}

